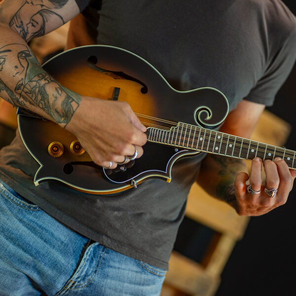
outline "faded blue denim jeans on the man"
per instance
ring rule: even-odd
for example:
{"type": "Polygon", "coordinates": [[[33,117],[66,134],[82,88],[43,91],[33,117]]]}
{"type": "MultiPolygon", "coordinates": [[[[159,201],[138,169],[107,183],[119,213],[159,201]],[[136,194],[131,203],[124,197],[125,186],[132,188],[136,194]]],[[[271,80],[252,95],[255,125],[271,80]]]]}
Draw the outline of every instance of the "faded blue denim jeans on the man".
{"type": "Polygon", "coordinates": [[[0,296],[154,296],[165,272],[90,241],[0,183],[0,296]]]}

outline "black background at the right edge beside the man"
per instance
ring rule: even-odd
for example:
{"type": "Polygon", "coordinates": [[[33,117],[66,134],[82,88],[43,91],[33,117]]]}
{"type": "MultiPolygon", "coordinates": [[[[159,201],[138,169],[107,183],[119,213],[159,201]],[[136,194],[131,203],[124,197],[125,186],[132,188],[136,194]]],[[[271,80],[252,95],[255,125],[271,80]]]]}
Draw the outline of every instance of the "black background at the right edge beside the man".
{"type": "MultiPolygon", "coordinates": [[[[268,0],[266,0],[268,1],[268,0]]],[[[296,14],[296,0],[283,0],[296,14]]],[[[296,48],[295,48],[296,50],[296,48]]],[[[286,144],[296,150],[296,66],[267,110],[292,125],[286,144]]],[[[296,185],[296,182],[295,182],[296,185]]],[[[231,254],[216,296],[296,295],[296,186],[286,205],[253,217],[231,254]]]]}

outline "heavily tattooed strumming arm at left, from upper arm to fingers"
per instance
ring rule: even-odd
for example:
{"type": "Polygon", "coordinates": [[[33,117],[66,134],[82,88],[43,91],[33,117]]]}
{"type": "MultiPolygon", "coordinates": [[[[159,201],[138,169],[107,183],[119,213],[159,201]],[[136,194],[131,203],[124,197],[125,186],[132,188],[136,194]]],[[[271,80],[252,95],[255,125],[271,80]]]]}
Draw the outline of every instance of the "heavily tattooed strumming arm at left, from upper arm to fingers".
{"type": "Polygon", "coordinates": [[[95,163],[108,167],[112,161],[115,168],[134,154],[135,146],[138,157],[143,154],[146,128],[124,102],[84,97],[63,87],[43,71],[26,43],[78,13],[76,0],[0,2],[0,97],[60,124],[95,163]]]}

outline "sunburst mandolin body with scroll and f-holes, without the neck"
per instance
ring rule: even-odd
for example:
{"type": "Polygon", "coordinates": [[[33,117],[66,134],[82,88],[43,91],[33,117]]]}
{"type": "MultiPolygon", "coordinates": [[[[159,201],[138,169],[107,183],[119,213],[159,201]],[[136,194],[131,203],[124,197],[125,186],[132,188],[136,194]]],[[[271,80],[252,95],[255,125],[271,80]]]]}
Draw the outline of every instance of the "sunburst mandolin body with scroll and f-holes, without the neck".
{"type": "MultiPolygon", "coordinates": [[[[66,51],[43,65],[63,86],[89,97],[127,102],[148,127],[169,130],[178,122],[218,129],[228,113],[228,102],[210,87],[190,91],[173,89],[147,61],[126,50],[105,46],[83,46],[66,51]],[[159,121],[158,119],[162,119],[159,121]],[[165,121],[163,121],[165,120],[165,121]]],[[[97,114],[104,110],[98,110],[97,114]]],[[[76,137],[58,124],[27,115],[18,115],[25,146],[40,164],[35,184],[60,181],[92,194],[114,194],[136,187],[150,178],[170,182],[173,163],[200,151],[147,142],[141,158],[115,170],[95,165],[87,151],[71,152],[76,137]],[[50,143],[59,142],[64,152],[53,157],[50,143]]]]}

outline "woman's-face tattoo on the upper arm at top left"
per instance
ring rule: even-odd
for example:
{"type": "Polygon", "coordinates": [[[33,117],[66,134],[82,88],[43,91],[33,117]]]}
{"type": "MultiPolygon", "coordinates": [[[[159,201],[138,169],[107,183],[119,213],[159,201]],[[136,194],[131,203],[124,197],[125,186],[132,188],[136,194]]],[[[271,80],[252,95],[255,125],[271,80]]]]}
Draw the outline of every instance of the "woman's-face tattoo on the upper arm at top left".
{"type": "Polygon", "coordinates": [[[61,8],[67,2],[68,0],[26,0],[9,22],[9,26],[28,42],[34,37],[44,35],[49,21],[56,26],[65,24],[62,16],[49,9],[61,8]]]}

